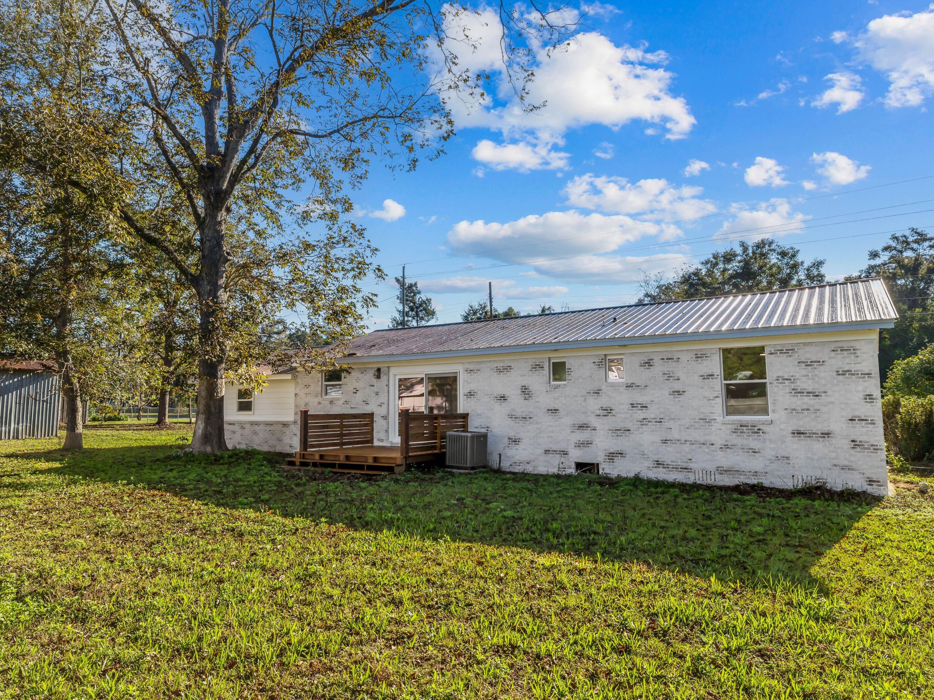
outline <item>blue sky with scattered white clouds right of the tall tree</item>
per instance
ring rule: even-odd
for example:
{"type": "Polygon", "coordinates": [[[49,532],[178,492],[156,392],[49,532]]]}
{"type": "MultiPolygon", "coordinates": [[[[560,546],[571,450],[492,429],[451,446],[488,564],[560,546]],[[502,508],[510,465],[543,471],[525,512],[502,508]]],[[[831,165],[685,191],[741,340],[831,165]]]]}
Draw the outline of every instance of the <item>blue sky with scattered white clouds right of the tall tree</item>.
{"type": "MultiPolygon", "coordinates": [[[[500,308],[607,306],[737,236],[798,245],[836,278],[888,232],[934,229],[934,5],[584,10],[572,47],[536,65],[539,113],[501,80],[456,110],[445,156],[375,167],[355,193],[389,274],[368,287],[372,328],[403,262],[448,322],[488,280],[500,308]]],[[[470,61],[495,71],[483,52],[470,61]]]]}

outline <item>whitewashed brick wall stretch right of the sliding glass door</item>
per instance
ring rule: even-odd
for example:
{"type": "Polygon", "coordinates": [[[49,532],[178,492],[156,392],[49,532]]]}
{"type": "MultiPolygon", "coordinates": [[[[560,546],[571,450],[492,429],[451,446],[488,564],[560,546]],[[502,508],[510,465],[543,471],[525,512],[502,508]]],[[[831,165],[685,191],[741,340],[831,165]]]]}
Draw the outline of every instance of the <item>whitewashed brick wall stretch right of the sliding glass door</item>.
{"type": "Polygon", "coordinates": [[[465,363],[463,410],[503,469],[886,493],[875,342],[766,349],[771,424],[724,421],[716,349],[626,353],[622,384],[602,355],[567,357],[564,385],[544,357],[465,363]]]}

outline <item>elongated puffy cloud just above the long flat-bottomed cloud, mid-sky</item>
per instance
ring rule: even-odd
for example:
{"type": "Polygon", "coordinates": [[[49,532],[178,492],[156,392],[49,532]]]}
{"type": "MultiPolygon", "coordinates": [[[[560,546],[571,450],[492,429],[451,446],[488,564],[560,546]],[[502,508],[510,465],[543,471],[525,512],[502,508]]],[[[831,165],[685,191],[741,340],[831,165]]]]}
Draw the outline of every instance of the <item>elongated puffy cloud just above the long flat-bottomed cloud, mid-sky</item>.
{"type": "MultiPolygon", "coordinates": [[[[676,187],[664,178],[650,178],[630,183],[625,177],[578,175],[568,182],[563,194],[568,203],[607,214],[640,215],[658,221],[676,221],[702,217],[716,211],[715,204],[698,197],[702,188],[676,187]]],[[[666,227],[668,235],[677,234],[666,227]]]]}

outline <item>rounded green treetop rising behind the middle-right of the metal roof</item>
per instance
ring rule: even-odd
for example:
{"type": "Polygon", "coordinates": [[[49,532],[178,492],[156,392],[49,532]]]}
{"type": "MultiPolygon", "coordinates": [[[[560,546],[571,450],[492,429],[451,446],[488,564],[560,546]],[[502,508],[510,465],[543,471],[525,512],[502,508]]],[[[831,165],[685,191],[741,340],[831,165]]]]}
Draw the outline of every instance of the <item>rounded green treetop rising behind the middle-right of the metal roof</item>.
{"type": "Polygon", "coordinates": [[[686,265],[668,279],[664,273],[643,274],[640,302],[698,299],[720,294],[740,294],[787,287],[820,285],[827,281],[824,260],[805,262],[793,245],[772,238],[738,248],[718,250],[697,265],[686,265]]]}

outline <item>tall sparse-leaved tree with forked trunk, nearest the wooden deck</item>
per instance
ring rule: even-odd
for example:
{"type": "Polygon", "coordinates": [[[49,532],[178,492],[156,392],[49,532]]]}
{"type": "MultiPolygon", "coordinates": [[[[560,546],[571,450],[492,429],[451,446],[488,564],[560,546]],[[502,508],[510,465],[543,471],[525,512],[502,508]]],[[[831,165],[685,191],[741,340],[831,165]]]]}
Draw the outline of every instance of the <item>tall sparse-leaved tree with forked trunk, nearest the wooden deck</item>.
{"type": "MultiPolygon", "coordinates": [[[[307,311],[310,330],[335,340],[326,351],[303,348],[309,366],[339,356],[363,329],[375,297],[361,280],[379,272],[365,232],[345,219],[353,205],[343,188],[359,185],[373,158],[413,168],[422,149],[440,152],[453,133],[446,99],[481,94],[488,79],[461,67],[458,56],[476,49],[478,37],[460,20],[477,13],[415,0],[104,0],[101,7],[119,47],[108,57],[119,65],[115,85],[143,113],[146,167],[163,171],[157,179],[171,182],[167,196],[186,204],[190,227],[184,236],[162,231],[145,207],[120,207],[120,216],[197,295],[191,446],[217,452],[226,449],[224,377],[248,371],[255,359],[246,343],[232,357],[232,335],[241,333],[233,298],[265,296],[273,311],[307,311]],[[309,201],[291,206],[286,190],[305,183],[309,201]],[[318,237],[306,233],[310,227],[318,237]],[[233,255],[234,229],[248,244],[244,255],[268,262],[262,273],[238,274],[245,259],[233,255]]],[[[555,18],[567,14],[531,3],[501,5],[500,17],[502,59],[524,96],[533,49],[559,44],[567,27],[555,18]]],[[[145,169],[131,168],[138,183],[145,169]]]]}

